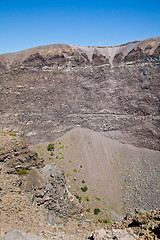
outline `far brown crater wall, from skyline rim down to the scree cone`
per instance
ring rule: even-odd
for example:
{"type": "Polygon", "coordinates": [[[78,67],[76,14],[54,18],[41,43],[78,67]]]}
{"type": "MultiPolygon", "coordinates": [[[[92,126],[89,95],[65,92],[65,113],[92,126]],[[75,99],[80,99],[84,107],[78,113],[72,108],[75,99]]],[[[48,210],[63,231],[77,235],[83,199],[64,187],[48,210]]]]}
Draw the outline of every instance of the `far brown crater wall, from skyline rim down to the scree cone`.
{"type": "Polygon", "coordinates": [[[80,126],[159,150],[159,67],[160,38],[0,55],[0,127],[38,143],[80,126]]]}

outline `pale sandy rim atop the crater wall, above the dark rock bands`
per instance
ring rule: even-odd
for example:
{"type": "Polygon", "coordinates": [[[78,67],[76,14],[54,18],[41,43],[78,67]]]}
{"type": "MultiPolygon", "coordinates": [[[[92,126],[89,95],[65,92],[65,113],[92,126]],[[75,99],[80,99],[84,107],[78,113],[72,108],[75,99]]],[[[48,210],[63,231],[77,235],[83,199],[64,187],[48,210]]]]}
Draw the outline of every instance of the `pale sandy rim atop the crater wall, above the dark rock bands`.
{"type": "Polygon", "coordinates": [[[145,40],[128,42],[125,44],[117,45],[117,46],[76,46],[70,44],[52,44],[52,45],[44,45],[29,48],[26,50],[22,50],[15,53],[5,53],[0,55],[0,64],[7,65],[9,68],[15,62],[23,62],[30,55],[35,53],[39,53],[42,56],[46,54],[54,55],[58,53],[63,53],[65,51],[77,52],[80,54],[86,54],[89,61],[92,61],[94,54],[100,54],[106,59],[108,59],[109,63],[113,65],[114,58],[120,55],[122,59],[124,59],[132,50],[139,48],[143,54],[153,55],[155,50],[160,45],[160,37],[149,38],[145,40]]]}

